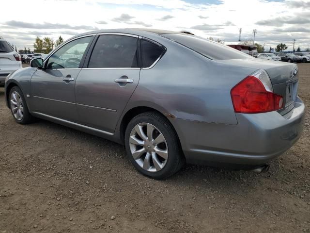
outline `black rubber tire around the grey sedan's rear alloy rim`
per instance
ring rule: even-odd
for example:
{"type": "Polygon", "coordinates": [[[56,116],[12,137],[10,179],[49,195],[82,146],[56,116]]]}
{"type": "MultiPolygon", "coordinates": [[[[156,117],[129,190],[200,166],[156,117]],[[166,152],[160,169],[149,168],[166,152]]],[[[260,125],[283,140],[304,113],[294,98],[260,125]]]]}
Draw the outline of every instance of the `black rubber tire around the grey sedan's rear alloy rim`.
{"type": "Polygon", "coordinates": [[[167,177],[175,174],[185,164],[185,157],[181,150],[181,146],[171,123],[169,120],[161,116],[156,112],[146,112],[135,116],[128,123],[125,131],[125,148],[130,162],[136,167],[136,169],[143,175],[154,178],[157,180],[166,179],[167,177]],[[168,159],[166,165],[159,171],[147,171],[143,169],[133,158],[130,146],[129,138],[132,129],[139,123],[150,123],[154,125],[165,137],[168,146],[168,159]]]}

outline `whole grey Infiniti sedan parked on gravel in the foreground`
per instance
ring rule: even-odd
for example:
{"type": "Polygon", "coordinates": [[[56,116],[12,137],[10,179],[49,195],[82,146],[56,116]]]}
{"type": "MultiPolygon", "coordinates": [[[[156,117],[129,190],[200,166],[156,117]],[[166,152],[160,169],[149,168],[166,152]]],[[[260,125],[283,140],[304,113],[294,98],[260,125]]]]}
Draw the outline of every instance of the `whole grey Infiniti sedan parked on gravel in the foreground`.
{"type": "Polygon", "coordinates": [[[44,118],[124,144],[155,179],[186,162],[262,170],[303,132],[297,90],[295,64],[146,29],[74,36],[5,83],[17,123],[44,118]]]}

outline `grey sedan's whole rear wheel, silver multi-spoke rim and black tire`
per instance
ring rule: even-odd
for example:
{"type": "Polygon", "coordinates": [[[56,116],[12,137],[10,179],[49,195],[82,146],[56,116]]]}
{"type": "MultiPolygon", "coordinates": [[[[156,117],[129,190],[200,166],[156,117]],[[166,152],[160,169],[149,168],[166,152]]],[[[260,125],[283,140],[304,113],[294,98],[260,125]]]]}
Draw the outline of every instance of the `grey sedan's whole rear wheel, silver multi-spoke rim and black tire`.
{"type": "Polygon", "coordinates": [[[145,176],[165,179],[184,165],[174,129],[156,112],[135,116],[126,128],[124,141],[130,162],[145,176]]]}

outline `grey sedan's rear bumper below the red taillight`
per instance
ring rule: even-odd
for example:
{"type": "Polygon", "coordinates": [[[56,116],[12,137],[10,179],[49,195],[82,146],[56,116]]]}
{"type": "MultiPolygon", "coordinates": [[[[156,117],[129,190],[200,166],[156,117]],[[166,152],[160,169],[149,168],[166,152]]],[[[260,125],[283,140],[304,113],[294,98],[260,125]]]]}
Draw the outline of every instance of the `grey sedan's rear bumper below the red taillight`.
{"type": "Polygon", "coordinates": [[[247,168],[270,162],[291,148],[303,132],[305,105],[292,111],[236,114],[238,124],[170,119],[188,163],[247,168]]]}

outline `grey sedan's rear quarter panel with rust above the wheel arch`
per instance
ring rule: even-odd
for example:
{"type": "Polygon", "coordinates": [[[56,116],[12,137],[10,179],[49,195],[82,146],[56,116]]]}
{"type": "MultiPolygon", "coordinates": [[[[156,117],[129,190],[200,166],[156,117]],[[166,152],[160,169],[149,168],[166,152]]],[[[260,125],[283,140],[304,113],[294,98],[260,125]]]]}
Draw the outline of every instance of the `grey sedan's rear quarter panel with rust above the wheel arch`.
{"type": "Polygon", "coordinates": [[[127,109],[148,106],[175,118],[237,124],[230,91],[255,69],[209,60],[165,38],[158,42],[167,51],[154,67],[141,69],[127,109]]]}

